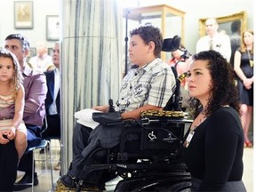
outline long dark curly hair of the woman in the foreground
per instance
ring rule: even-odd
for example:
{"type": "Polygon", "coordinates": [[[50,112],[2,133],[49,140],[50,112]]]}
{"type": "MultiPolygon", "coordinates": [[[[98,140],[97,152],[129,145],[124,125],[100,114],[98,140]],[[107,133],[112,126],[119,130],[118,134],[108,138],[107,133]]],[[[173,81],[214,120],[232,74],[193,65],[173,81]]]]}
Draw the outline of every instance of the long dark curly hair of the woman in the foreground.
{"type": "MultiPolygon", "coordinates": [[[[229,105],[240,115],[240,103],[235,81],[235,73],[231,65],[220,54],[213,50],[198,52],[193,60],[207,60],[208,69],[212,76],[212,87],[207,106],[204,108],[204,116],[210,116],[218,108],[229,105]]],[[[191,115],[195,118],[201,111],[202,105],[196,98],[188,100],[191,115]]]]}

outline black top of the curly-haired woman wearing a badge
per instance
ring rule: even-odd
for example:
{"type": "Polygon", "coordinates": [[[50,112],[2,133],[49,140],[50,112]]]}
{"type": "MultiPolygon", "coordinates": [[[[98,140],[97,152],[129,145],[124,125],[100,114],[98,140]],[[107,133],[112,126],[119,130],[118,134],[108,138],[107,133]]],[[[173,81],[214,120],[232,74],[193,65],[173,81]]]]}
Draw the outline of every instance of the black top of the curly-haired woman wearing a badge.
{"type": "Polygon", "coordinates": [[[227,181],[242,180],[244,133],[234,108],[223,107],[208,116],[183,149],[191,176],[203,180],[199,191],[220,191],[227,181]]]}

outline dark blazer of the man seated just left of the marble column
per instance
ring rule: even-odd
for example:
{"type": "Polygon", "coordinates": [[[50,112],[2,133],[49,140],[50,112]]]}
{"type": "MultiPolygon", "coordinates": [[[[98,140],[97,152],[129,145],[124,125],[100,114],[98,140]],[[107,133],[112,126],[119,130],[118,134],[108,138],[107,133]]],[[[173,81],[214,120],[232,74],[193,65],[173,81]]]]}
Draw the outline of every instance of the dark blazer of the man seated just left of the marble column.
{"type": "MultiPolygon", "coordinates": [[[[46,76],[46,84],[48,88],[48,92],[46,94],[46,99],[45,99],[45,110],[47,115],[49,115],[49,107],[52,105],[53,99],[54,99],[54,84],[55,84],[54,70],[44,72],[46,76]]],[[[56,106],[57,106],[57,112],[58,114],[60,114],[60,89],[56,98],[56,106]]]]}

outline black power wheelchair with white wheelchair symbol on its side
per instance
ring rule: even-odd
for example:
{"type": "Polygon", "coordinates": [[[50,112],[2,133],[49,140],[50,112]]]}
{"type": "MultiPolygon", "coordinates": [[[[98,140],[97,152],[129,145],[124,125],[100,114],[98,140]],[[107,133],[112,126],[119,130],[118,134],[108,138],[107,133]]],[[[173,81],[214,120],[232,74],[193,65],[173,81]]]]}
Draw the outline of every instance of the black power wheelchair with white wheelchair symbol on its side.
{"type": "MultiPolygon", "coordinates": [[[[106,129],[108,125],[123,124],[125,130],[118,146],[92,152],[93,158],[104,151],[106,164],[84,166],[84,172],[119,175],[123,180],[117,183],[115,192],[190,191],[191,176],[180,149],[185,125],[191,121],[182,111],[145,111],[140,121],[122,120],[117,112],[100,113],[94,120],[105,124],[106,129]]],[[[83,180],[79,180],[76,191],[81,191],[82,185],[83,180]]]]}

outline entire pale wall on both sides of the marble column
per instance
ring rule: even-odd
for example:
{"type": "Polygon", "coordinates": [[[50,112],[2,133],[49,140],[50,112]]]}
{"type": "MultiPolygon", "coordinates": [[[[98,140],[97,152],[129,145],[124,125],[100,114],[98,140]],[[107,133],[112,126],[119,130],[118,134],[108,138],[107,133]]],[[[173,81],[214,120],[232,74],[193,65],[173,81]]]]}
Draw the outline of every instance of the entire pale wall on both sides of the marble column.
{"type": "MultiPolygon", "coordinates": [[[[111,0],[109,0],[111,1],[111,0]]],[[[121,0],[124,1],[124,0],[121,0]]],[[[127,0],[126,0],[127,1],[127,0]]],[[[131,0],[130,0],[131,1],[131,0]]],[[[15,29],[13,20],[14,0],[0,0],[0,47],[4,44],[5,36],[11,33],[22,33],[28,37],[32,47],[36,41],[46,40],[46,15],[59,15],[61,0],[36,0],[34,3],[34,28],[15,29]]],[[[198,20],[207,17],[220,17],[235,12],[246,11],[248,27],[253,28],[252,0],[140,0],[140,5],[170,4],[184,12],[185,15],[185,45],[192,53],[196,51],[196,41],[199,38],[198,20]]],[[[255,5],[255,3],[254,3],[255,5]]],[[[123,28],[125,26],[123,25],[123,28]]],[[[54,42],[48,41],[48,46],[54,42]]]]}

